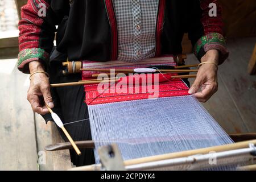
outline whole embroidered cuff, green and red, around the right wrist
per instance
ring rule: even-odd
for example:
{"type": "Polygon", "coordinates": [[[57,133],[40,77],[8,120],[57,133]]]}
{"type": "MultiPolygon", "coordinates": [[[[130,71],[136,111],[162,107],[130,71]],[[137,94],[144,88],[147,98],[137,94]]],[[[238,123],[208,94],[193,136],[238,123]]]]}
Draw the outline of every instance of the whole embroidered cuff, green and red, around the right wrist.
{"type": "Polygon", "coordinates": [[[222,64],[229,56],[224,36],[216,32],[202,36],[194,47],[194,53],[201,60],[201,57],[211,49],[217,49],[220,53],[218,64],[222,64]]]}

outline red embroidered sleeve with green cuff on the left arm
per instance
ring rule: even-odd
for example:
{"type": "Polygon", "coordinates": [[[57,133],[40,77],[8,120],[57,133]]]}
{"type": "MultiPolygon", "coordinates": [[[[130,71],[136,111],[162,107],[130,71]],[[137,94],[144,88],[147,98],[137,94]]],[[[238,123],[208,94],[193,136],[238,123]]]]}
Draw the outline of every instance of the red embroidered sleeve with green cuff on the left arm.
{"type": "Polygon", "coordinates": [[[30,61],[47,63],[53,47],[55,23],[48,0],[28,0],[21,9],[19,21],[18,69],[28,73],[30,61]]]}

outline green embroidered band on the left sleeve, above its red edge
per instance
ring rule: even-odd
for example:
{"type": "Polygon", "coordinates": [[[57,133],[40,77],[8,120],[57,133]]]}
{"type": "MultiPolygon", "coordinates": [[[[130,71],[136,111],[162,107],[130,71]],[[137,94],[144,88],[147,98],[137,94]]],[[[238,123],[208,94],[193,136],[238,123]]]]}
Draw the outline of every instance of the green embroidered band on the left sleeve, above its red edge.
{"type": "Polygon", "coordinates": [[[40,60],[46,61],[49,59],[49,54],[40,48],[28,48],[19,52],[18,55],[18,67],[23,63],[23,61],[28,61],[33,58],[38,58],[40,60]]]}

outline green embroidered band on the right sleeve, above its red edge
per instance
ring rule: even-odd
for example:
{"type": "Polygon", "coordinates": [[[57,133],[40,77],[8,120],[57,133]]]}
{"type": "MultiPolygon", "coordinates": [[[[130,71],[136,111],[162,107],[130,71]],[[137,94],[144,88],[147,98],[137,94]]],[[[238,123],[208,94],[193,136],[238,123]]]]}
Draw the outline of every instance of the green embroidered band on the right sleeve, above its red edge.
{"type": "Polygon", "coordinates": [[[205,36],[202,36],[195,45],[195,48],[194,48],[195,55],[196,56],[198,55],[200,49],[204,47],[205,44],[214,44],[214,43],[225,46],[226,41],[224,36],[222,36],[221,34],[218,34],[217,32],[213,32],[205,36]]]}

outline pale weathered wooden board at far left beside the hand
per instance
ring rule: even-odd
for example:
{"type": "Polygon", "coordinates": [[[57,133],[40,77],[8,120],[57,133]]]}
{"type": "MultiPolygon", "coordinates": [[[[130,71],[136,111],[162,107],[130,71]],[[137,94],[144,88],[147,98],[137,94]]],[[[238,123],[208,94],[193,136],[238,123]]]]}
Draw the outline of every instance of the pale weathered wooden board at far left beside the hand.
{"type": "Polygon", "coordinates": [[[9,74],[0,73],[0,170],[34,171],[38,170],[38,153],[34,117],[26,100],[28,76],[16,69],[16,61],[0,60],[1,68],[10,69],[9,74]]]}

